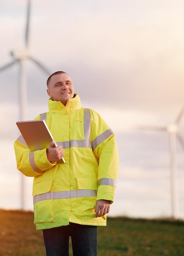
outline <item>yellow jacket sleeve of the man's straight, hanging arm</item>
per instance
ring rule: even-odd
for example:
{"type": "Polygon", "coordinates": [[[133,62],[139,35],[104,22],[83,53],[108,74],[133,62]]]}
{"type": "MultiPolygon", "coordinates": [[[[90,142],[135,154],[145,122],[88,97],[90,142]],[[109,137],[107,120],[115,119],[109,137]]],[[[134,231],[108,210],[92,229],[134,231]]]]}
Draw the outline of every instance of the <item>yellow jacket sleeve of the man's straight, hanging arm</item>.
{"type": "Polygon", "coordinates": [[[119,153],[114,132],[94,111],[92,114],[91,141],[94,156],[99,161],[98,191],[96,200],[114,201],[119,171],[119,153]]]}

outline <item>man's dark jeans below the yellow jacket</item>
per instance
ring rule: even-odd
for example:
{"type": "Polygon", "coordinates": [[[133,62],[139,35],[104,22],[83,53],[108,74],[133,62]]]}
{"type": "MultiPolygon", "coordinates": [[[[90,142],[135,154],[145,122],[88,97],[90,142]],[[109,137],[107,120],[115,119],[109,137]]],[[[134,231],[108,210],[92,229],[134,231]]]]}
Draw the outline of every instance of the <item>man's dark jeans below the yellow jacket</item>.
{"type": "Polygon", "coordinates": [[[47,256],[68,256],[69,236],[72,239],[73,256],[97,255],[97,227],[70,223],[43,230],[47,256]]]}

